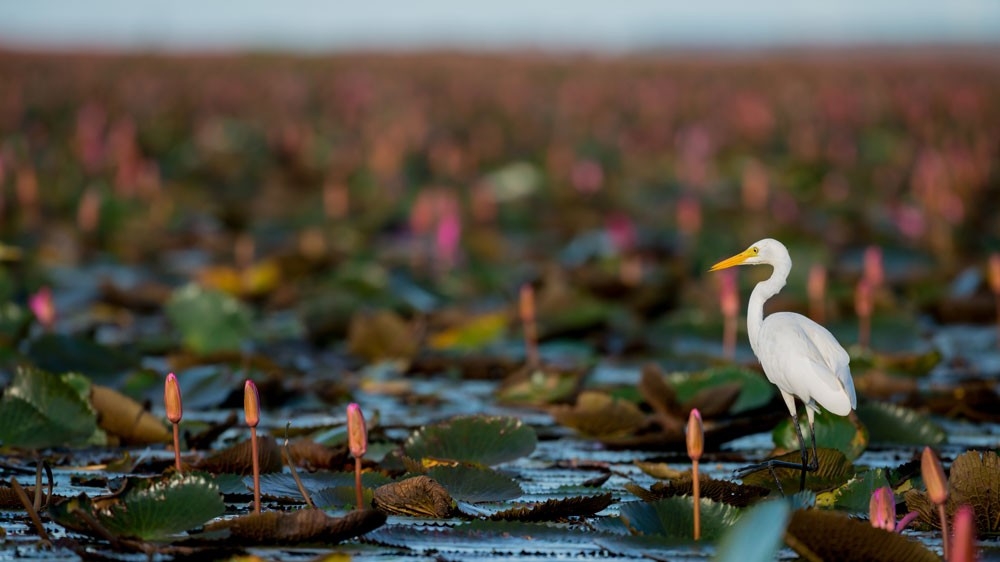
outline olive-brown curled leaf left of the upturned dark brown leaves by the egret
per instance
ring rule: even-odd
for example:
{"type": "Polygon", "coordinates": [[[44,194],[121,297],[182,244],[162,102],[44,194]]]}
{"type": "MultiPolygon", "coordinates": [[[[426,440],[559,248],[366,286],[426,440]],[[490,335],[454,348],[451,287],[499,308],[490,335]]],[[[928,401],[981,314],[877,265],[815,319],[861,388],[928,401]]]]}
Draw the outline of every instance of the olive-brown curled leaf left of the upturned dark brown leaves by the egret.
{"type": "Polygon", "coordinates": [[[639,408],[603,392],[581,392],[574,406],[552,408],[556,422],[597,438],[631,435],[646,425],[646,415],[639,408]]]}

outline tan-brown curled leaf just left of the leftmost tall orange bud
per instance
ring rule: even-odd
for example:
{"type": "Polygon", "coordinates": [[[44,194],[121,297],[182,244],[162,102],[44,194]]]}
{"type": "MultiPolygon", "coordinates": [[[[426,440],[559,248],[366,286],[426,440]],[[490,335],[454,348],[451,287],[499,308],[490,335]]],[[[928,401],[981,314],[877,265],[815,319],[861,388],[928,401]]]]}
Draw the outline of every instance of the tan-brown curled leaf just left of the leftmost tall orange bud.
{"type": "Polygon", "coordinates": [[[142,404],[106,386],[91,385],[90,403],[97,412],[97,425],[128,445],[165,443],[172,434],[166,424],[147,412],[142,404]]]}

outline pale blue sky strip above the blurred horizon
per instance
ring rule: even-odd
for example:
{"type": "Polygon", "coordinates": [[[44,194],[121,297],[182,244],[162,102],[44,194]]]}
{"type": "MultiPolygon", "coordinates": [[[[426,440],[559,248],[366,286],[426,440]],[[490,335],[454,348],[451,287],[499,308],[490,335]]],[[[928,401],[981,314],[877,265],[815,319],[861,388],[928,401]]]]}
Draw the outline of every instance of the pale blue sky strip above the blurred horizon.
{"type": "Polygon", "coordinates": [[[998,43],[998,0],[6,0],[0,45],[629,51],[998,43]]]}

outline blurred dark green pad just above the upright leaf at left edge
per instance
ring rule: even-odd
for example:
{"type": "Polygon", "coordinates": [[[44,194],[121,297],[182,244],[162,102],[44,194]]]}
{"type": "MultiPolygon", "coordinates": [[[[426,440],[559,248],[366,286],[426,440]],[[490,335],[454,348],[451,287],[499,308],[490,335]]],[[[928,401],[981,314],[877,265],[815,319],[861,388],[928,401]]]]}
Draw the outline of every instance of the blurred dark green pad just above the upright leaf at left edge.
{"type": "Polygon", "coordinates": [[[129,353],[70,334],[42,334],[31,340],[26,354],[45,371],[83,373],[104,384],[113,384],[119,375],[138,365],[129,353]]]}

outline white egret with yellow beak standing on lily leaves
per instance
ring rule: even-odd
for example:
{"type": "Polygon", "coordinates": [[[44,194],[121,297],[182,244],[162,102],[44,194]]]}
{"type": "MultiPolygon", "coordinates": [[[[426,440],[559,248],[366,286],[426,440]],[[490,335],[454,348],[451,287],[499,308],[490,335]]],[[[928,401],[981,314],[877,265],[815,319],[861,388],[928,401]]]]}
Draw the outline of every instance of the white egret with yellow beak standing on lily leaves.
{"type": "MultiPolygon", "coordinates": [[[[829,330],[794,312],[775,312],[764,317],[764,303],[778,294],[785,286],[792,259],[785,245],[772,238],[765,238],[735,256],[722,260],[709,271],[718,271],[736,265],[770,265],[774,272],[768,279],[757,283],[747,305],[747,333],[750,347],[771,381],[785,399],[792,425],[799,437],[802,451],[802,479],[806,471],[819,468],[816,454],[815,415],[822,406],[838,416],[846,416],[857,406],[854,380],[849,367],[850,357],[829,330]],[[805,404],[812,435],[812,459],[799,428],[795,398],[805,404]]],[[[757,470],[798,465],[768,460],[740,470],[745,476],[757,470]]],[[[780,483],[778,484],[780,488],[780,483]]]]}

